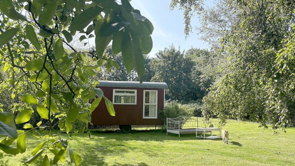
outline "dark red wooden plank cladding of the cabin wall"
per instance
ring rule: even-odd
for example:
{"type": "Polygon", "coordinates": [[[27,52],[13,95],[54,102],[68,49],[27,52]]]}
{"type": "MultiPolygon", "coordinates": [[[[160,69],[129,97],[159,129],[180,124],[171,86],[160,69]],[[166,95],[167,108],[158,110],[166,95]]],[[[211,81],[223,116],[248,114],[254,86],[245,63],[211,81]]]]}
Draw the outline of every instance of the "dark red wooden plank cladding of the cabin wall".
{"type": "Polygon", "coordinates": [[[158,91],[158,112],[164,108],[164,89],[159,88],[131,88],[131,87],[113,87],[99,86],[104,91],[104,95],[113,102],[113,89],[136,89],[137,104],[114,104],[116,116],[110,116],[101,99],[100,104],[92,112],[91,122],[93,125],[163,125],[158,119],[143,119],[143,90],[158,91]]]}

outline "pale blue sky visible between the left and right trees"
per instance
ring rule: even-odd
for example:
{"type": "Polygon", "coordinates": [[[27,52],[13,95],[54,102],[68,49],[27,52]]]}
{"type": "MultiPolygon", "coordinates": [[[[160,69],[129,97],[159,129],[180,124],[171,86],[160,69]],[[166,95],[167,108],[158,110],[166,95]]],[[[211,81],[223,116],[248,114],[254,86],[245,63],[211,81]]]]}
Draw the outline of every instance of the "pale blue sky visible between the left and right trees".
{"type": "MultiPolygon", "coordinates": [[[[182,11],[178,9],[170,11],[170,2],[171,0],[132,0],[130,2],[154,26],[152,34],[153,49],[149,56],[155,56],[158,50],[163,50],[172,43],[175,47],[180,46],[181,50],[188,50],[191,46],[209,48],[204,41],[199,39],[200,36],[196,34],[195,27],[200,26],[197,16],[191,20],[193,33],[185,40],[182,11]]],[[[207,6],[212,6],[213,2],[213,0],[207,0],[207,6]]]]}

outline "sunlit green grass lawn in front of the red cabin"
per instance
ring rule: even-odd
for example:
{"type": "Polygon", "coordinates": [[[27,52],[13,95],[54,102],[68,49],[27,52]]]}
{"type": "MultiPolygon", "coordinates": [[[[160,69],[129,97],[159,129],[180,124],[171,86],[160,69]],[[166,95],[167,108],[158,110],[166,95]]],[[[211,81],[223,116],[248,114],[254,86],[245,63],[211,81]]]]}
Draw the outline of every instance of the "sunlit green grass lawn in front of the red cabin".
{"type": "MultiPolygon", "coordinates": [[[[171,133],[167,136],[166,131],[154,130],[154,127],[136,128],[137,132],[131,134],[93,131],[90,140],[86,135],[61,135],[68,139],[71,149],[81,155],[83,166],[295,165],[295,128],[273,135],[271,130],[258,128],[257,123],[233,120],[224,128],[229,131],[229,144],[224,144],[222,139],[197,139],[195,134],[183,134],[180,138],[171,133]]],[[[46,131],[41,134],[45,135],[46,131]]],[[[28,136],[25,153],[13,156],[0,152],[0,166],[24,165],[33,147],[43,141],[28,136]]],[[[40,163],[39,159],[32,165],[40,163]]],[[[58,165],[74,164],[67,154],[66,161],[59,161],[58,165]]]]}

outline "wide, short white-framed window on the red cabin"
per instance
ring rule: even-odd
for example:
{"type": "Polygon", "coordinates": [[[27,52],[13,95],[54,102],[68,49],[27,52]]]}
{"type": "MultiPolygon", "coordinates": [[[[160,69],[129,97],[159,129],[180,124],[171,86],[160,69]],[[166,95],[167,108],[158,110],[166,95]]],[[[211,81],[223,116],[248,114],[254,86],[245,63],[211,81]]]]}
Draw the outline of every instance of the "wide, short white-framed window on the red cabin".
{"type": "Polygon", "coordinates": [[[136,90],[114,89],[113,104],[136,104],[136,90]]]}

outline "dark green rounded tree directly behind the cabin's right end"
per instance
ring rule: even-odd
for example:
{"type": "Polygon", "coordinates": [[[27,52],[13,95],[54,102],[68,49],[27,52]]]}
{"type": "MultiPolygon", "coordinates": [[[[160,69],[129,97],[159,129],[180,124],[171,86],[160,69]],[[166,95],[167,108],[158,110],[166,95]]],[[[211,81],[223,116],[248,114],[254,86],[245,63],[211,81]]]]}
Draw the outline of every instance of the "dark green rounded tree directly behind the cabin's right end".
{"type": "Polygon", "coordinates": [[[191,70],[194,63],[185,58],[184,53],[173,45],[156,53],[156,58],[151,62],[156,71],[152,81],[167,83],[165,97],[172,100],[185,100],[190,98],[188,90],[191,88],[191,70]]]}

